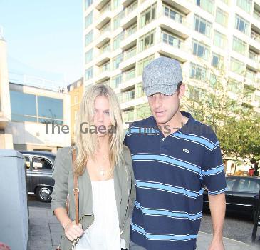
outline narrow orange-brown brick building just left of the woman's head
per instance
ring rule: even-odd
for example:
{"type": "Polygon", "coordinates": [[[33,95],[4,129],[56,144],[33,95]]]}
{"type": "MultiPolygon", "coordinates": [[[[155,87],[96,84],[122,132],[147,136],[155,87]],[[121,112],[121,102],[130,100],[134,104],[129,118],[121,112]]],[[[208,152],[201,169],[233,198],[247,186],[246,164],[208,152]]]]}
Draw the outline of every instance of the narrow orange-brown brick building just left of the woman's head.
{"type": "Polygon", "coordinates": [[[80,102],[83,97],[84,81],[83,77],[67,86],[68,94],[71,96],[71,143],[75,143],[75,122],[77,119],[80,102]]]}

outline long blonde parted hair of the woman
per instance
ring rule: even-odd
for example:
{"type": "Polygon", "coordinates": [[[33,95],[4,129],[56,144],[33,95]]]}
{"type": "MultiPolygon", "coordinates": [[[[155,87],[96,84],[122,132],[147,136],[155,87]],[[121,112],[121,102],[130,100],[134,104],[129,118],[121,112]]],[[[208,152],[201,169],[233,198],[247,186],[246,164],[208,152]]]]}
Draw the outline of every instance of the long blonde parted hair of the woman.
{"type": "MultiPolygon", "coordinates": [[[[110,121],[113,126],[113,131],[108,132],[109,136],[109,161],[110,161],[110,175],[113,174],[115,164],[118,164],[123,151],[123,121],[122,113],[118,98],[110,88],[110,86],[103,84],[93,84],[88,86],[80,103],[80,109],[76,119],[76,144],[74,148],[77,149],[75,174],[81,176],[85,171],[88,158],[94,158],[95,152],[98,150],[98,136],[95,133],[82,133],[80,124],[85,123],[88,131],[90,126],[93,126],[93,111],[95,98],[98,96],[105,96],[108,98],[110,106],[110,121]]],[[[109,128],[107,128],[109,130],[109,128]]]]}

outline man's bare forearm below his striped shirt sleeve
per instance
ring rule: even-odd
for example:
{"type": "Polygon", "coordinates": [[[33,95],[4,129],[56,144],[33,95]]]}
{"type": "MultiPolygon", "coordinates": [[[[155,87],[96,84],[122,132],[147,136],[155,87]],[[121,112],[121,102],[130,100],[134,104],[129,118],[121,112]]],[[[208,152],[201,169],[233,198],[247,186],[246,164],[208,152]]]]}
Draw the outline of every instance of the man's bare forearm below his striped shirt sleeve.
{"type": "Polygon", "coordinates": [[[209,250],[224,250],[222,233],[226,213],[225,194],[209,194],[209,209],[212,214],[213,239],[209,250]]]}

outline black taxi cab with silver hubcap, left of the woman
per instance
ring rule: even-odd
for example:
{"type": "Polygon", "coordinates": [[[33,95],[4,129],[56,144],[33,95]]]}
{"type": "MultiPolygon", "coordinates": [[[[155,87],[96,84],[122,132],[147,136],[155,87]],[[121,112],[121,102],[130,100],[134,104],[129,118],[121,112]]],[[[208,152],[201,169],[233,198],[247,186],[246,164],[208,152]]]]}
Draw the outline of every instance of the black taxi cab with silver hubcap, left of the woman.
{"type": "Polygon", "coordinates": [[[55,154],[46,151],[20,151],[26,166],[28,194],[35,194],[38,200],[51,201],[54,180],[52,178],[55,154]]]}

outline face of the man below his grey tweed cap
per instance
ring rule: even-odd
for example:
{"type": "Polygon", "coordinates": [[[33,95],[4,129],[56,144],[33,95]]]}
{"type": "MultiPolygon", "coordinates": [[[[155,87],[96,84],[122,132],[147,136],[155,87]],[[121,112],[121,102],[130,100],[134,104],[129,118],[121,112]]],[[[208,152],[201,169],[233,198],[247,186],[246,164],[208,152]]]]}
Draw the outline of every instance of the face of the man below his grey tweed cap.
{"type": "Polygon", "coordinates": [[[180,86],[180,90],[171,96],[162,93],[147,96],[152,115],[155,117],[158,125],[167,124],[172,119],[180,107],[180,99],[183,95],[184,84],[180,86]]]}

